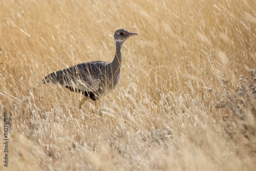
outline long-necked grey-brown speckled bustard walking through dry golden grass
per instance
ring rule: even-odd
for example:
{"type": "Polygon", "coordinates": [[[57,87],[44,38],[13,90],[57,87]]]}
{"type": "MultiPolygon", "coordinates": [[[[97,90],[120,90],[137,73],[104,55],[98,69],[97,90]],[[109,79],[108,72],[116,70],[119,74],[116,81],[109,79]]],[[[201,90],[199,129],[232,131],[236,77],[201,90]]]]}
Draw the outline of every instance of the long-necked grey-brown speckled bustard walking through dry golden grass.
{"type": "Polygon", "coordinates": [[[112,62],[89,61],[59,70],[47,75],[42,83],[60,84],[72,92],[81,93],[79,110],[85,101],[92,99],[98,108],[97,100],[112,92],[120,82],[122,65],[122,45],[130,36],[138,35],[125,29],[114,34],[116,53],[112,62]]]}

